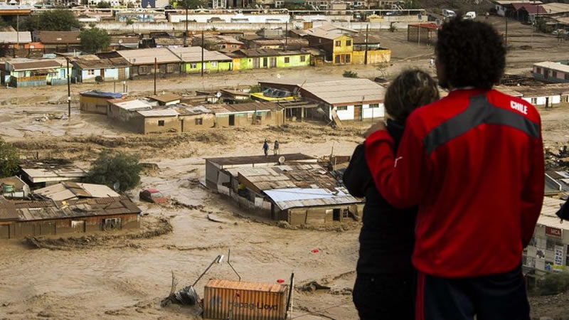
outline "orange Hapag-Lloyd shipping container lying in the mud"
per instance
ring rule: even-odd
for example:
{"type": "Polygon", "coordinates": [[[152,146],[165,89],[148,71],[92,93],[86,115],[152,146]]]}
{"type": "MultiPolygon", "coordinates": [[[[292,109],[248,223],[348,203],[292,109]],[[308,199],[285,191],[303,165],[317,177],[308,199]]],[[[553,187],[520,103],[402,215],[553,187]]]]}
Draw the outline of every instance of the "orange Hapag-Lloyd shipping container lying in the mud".
{"type": "Polygon", "coordinates": [[[203,293],[203,318],[284,320],[287,291],[285,284],[210,279],[203,293]]]}

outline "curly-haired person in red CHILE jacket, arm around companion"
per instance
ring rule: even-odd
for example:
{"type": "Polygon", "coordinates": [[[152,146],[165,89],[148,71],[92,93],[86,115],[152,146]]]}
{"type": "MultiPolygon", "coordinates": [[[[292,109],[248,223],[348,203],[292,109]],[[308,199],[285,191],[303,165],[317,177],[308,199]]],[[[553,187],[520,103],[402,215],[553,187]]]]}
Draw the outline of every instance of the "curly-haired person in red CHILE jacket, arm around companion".
{"type": "Polygon", "coordinates": [[[543,203],[540,116],[492,89],[506,49],[489,24],[448,21],[435,53],[449,95],[410,114],[395,156],[383,124],[365,142],[385,200],[419,208],[416,319],[529,319],[521,255],[543,203]]]}

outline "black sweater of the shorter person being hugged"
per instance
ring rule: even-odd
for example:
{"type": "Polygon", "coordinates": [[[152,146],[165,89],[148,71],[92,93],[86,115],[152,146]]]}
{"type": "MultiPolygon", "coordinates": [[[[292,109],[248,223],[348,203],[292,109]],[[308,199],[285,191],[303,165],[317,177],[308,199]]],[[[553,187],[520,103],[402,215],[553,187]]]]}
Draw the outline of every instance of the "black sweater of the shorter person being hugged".
{"type": "MultiPolygon", "coordinates": [[[[388,120],[388,132],[397,150],[403,126],[388,120]]],[[[359,274],[410,272],[415,242],[416,208],[398,210],[390,206],[377,191],[363,144],[356,147],[344,172],[344,184],[352,196],[366,198],[360,233],[359,274]]]]}

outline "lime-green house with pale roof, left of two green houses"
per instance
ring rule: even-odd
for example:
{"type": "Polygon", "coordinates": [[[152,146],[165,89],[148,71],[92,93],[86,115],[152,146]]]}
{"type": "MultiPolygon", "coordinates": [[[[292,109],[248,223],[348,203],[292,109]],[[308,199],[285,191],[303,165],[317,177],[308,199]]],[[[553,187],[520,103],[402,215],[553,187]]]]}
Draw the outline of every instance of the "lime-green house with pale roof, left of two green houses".
{"type": "MultiPolygon", "coordinates": [[[[182,73],[201,73],[201,47],[170,48],[182,60],[182,73]]],[[[203,71],[206,73],[219,73],[233,70],[233,58],[203,49],[203,71]]]]}

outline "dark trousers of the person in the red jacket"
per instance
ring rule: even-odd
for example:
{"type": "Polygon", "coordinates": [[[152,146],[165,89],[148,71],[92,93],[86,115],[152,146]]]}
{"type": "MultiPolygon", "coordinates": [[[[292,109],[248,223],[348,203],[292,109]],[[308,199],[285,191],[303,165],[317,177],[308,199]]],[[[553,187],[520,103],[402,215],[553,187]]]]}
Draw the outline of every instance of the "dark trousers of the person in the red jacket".
{"type": "Polygon", "coordinates": [[[484,277],[446,279],[418,274],[417,320],[529,320],[521,265],[484,277]]]}

